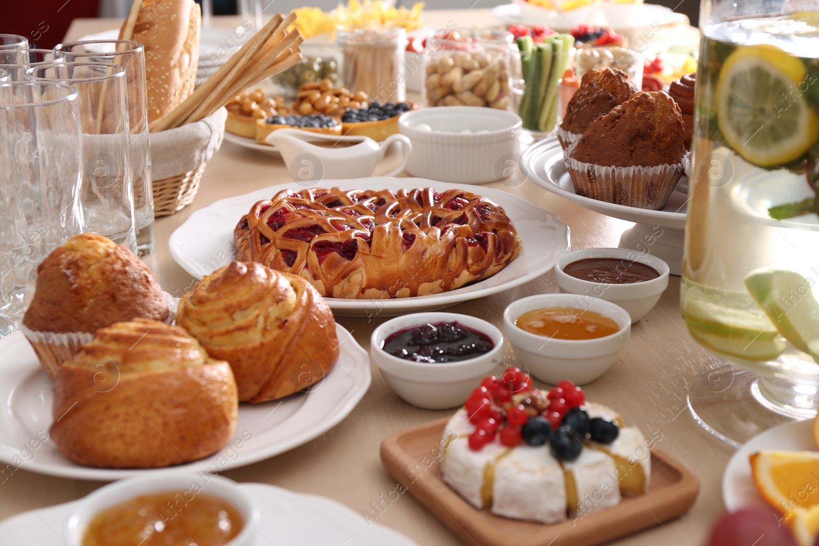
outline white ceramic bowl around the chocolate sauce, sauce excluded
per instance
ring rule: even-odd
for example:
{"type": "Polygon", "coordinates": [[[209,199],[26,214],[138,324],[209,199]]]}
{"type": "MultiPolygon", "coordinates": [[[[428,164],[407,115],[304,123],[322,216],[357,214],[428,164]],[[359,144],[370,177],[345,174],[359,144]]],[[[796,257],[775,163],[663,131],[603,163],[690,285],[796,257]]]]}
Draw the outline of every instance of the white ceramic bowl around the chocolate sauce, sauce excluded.
{"type": "Polygon", "coordinates": [[[611,301],[631,315],[631,323],[640,318],[654,307],[668,287],[668,264],[662,259],[627,248],[584,248],[574,250],[563,255],[554,264],[554,278],[557,279],[560,291],[568,294],[594,296],[601,300],[611,301]],[[611,284],[604,282],[584,281],[572,277],[563,271],[568,264],[578,259],[586,258],[618,258],[650,265],[658,271],[660,276],[645,282],[631,282],[629,284],[611,284]]]}

